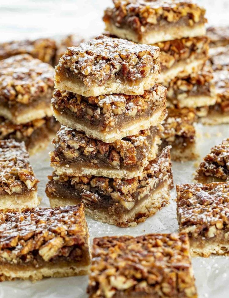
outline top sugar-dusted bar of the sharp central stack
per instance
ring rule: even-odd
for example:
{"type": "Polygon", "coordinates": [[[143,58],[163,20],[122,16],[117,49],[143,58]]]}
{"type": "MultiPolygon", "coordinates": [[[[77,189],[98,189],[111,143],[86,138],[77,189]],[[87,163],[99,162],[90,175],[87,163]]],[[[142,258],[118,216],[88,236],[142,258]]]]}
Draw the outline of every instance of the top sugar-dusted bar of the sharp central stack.
{"type": "Polygon", "coordinates": [[[84,96],[143,94],[158,79],[160,49],[101,35],[67,48],[55,88],[84,96]]]}

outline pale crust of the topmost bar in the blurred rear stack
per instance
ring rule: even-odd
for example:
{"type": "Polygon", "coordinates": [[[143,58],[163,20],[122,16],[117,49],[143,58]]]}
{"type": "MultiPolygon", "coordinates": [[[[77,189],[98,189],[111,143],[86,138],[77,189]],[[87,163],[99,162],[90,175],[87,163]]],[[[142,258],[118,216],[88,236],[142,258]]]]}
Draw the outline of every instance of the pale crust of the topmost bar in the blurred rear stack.
{"type": "Polygon", "coordinates": [[[169,23],[168,30],[165,28],[160,29],[158,26],[157,30],[147,30],[142,33],[142,36],[131,30],[118,28],[112,23],[106,23],[106,31],[113,35],[118,36],[122,39],[128,39],[136,43],[145,43],[147,45],[152,45],[157,42],[164,42],[167,40],[181,39],[185,37],[196,37],[206,34],[206,29],[204,24],[194,24],[194,26],[173,26],[169,23]]]}

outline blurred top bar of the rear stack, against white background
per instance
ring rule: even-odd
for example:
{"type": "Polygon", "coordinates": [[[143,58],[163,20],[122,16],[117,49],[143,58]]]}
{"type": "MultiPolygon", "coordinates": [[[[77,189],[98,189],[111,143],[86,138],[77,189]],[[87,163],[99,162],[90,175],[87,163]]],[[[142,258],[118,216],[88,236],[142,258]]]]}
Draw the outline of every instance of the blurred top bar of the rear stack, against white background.
{"type": "Polygon", "coordinates": [[[205,9],[189,0],[113,0],[103,20],[120,38],[154,44],[205,35],[205,9]]]}

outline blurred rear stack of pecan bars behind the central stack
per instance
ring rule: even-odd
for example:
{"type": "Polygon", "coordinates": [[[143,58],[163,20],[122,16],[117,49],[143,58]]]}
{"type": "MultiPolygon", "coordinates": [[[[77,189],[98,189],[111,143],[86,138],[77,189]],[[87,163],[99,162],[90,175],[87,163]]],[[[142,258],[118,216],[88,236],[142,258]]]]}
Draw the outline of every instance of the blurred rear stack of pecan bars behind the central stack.
{"type": "Polygon", "coordinates": [[[161,49],[158,82],[168,88],[169,107],[164,145],[172,145],[174,160],[195,159],[194,122],[216,102],[205,9],[189,0],[113,2],[103,17],[108,34],[161,49]]]}

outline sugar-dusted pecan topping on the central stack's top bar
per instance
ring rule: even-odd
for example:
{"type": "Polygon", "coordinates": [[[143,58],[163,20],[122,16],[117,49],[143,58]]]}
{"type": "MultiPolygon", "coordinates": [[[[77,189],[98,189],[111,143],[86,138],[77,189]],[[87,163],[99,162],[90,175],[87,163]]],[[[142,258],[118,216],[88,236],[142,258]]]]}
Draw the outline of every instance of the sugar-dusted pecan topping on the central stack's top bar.
{"type": "Polygon", "coordinates": [[[67,48],[56,67],[56,76],[64,72],[82,80],[87,87],[103,86],[115,76],[141,80],[159,71],[159,55],[158,47],[101,35],[67,48]]]}

